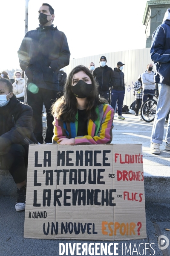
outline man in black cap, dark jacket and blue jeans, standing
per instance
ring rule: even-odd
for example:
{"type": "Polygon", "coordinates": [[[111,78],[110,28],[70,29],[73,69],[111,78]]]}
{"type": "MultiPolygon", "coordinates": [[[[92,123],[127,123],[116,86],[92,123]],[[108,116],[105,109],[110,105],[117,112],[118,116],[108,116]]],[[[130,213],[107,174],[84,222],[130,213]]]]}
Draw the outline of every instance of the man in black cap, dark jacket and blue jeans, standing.
{"type": "Polygon", "coordinates": [[[113,70],[114,82],[111,92],[112,103],[111,106],[115,109],[116,103],[118,106],[118,119],[124,120],[122,114],[122,106],[124,102],[125,86],[124,86],[124,73],[122,72],[123,63],[118,62],[117,68],[113,70]]]}

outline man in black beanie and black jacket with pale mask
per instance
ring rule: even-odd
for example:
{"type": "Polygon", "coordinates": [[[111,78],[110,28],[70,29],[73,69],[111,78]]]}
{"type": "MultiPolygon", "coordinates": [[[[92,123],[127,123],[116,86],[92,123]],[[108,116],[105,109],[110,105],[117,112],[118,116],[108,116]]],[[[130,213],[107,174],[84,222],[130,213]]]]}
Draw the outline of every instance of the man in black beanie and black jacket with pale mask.
{"type": "Polygon", "coordinates": [[[113,70],[106,65],[107,59],[105,56],[100,57],[100,67],[95,68],[93,76],[99,84],[99,94],[110,103],[110,87],[113,86],[113,70]]]}

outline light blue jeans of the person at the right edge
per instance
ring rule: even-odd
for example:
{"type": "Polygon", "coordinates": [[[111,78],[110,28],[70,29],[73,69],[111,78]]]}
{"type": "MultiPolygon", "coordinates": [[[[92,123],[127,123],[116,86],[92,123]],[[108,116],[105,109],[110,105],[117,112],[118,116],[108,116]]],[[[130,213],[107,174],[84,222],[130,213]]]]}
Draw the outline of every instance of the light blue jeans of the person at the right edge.
{"type": "MultiPolygon", "coordinates": [[[[153,123],[151,142],[162,144],[164,136],[164,122],[170,110],[170,86],[165,84],[158,84],[159,97],[156,106],[156,115],[153,123]]],[[[167,141],[170,142],[170,116],[167,124],[167,141]]]]}

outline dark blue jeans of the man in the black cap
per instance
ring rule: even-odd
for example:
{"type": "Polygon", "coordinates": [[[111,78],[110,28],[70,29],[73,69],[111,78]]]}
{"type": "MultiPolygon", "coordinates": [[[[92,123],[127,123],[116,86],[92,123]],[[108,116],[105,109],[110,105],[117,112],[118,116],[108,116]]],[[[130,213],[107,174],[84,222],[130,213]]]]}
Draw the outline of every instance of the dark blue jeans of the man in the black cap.
{"type": "Polygon", "coordinates": [[[116,102],[118,106],[118,115],[122,114],[122,106],[124,102],[125,91],[112,90],[111,92],[111,106],[113,109],[116,107],[116,102]]]}

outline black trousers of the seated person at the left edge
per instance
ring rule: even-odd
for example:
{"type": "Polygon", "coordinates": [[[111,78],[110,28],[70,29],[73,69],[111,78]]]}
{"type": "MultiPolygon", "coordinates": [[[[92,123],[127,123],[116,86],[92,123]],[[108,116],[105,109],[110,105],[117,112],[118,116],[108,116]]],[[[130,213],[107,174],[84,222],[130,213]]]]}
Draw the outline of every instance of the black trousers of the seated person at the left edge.
{"type": "Polygon", "coordinates": [[[28,150],[20,144],[12,144],[1,157],[3,165],[9,170],[14,182],[23,182],[26,179],[28,150]]]}

